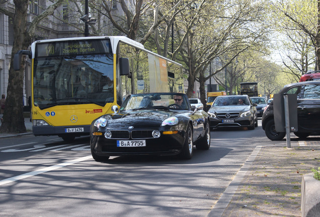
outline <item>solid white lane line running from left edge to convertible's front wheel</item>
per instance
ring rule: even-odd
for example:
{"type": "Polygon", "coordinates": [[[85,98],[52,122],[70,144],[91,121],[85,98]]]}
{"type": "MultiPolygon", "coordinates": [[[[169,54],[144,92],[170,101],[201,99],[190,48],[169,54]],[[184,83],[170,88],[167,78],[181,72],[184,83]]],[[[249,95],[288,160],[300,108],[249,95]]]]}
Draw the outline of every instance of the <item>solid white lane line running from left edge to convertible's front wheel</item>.
{"type": "Polygon", "coordinates": [[[77,159],[74,159],[74,160],[66,161],[66,162],[63,162],[63,163],[60,163],[60,164],[56,164],[56,165],[53,165],[53,166],[50,166],[50,167],[45,167],[45,168],[42,168],[42,169],[38,169],[38,170],[35,170],[35,171],[32,171],[32,172],[28,172],[28,173],[25,173],[25,174],[22,174],[22,175],[18,175],[18,176],[14,176],[14,177],[11,177],[11,178],[3,179],[3,180],[0,181],[0,186],[8,184],[8,183],[11,183],[11,182],[15,182],[15,181],[18,181],[18,180],[21,180],[21,179],[29,178],[29,177],[32,177],[32,176],[35,176],[35,175],[39,175],[41,173],[45,173],[45,172],[49,172],[49,171],[52,171],[52,170],[55,170],[55,169],[59,169],[59,168],[65,167],[65,166],[69,166],[71,164],[75,164],[75,163],[78,163],[78,162],[81,162],[81,161],[89,160],[89,159],[92,159],[92,155],[88,155],[86,157],[81,157],[81,158],[77,158],[77,159]]]}

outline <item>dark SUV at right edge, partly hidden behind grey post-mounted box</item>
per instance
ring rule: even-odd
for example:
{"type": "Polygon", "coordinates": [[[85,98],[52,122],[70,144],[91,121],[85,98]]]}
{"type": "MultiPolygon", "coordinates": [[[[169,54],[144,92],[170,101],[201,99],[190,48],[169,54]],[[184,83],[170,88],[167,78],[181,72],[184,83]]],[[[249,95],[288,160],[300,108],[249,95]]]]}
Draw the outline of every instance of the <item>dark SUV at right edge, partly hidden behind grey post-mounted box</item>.
{"type": "MultiPolygon", "coordinates": [[[[311,133],[320,133],[320,81],[305,81],[284,86],[280,94],[297,94],[297,137],[306,138],[311,133]]],[[[276,132],[273,118],[273,101],[262,116],[262,129],[270,140],[282,140],[285,132],[276,132]]]]}

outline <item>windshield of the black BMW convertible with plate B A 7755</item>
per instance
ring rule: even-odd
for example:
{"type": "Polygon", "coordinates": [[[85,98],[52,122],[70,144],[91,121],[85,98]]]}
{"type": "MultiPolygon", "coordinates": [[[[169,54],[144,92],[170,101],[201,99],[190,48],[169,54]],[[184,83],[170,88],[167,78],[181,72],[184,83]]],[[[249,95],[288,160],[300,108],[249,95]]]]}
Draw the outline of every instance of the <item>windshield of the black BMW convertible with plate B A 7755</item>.
{"type": "Polygon", "coordinates": [[[132,94],[126,98],[119,112],[142,109],[190,110],[187,95],[181,93],[132,94]]]}

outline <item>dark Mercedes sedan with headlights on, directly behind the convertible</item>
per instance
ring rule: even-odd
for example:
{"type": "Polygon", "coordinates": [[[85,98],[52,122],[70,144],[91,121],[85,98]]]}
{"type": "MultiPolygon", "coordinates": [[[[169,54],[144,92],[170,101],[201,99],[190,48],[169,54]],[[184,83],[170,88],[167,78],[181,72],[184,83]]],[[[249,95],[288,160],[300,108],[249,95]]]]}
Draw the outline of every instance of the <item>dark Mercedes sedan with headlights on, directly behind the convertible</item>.
{"type": "Polygon", "coordinates": [[[248,127],[254,130],[258,127],[256,106],[248,95],[218,96],[208,111],[210,127],[248,127]],[[244,103],[239,104],[241,100],[244,103]]]}

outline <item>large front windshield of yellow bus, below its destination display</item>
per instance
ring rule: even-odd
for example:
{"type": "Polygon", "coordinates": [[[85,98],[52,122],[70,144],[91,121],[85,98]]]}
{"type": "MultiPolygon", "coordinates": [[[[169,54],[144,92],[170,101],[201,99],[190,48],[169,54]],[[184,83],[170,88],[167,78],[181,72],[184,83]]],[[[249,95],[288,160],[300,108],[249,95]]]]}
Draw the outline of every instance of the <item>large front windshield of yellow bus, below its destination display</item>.
{"type": "Polygon", "coordinates": [[[113,55],[93,53],[35,57],[34,104],[43,110],[55,105],[113,102],[113,55]]]}

